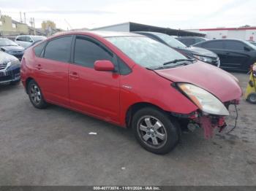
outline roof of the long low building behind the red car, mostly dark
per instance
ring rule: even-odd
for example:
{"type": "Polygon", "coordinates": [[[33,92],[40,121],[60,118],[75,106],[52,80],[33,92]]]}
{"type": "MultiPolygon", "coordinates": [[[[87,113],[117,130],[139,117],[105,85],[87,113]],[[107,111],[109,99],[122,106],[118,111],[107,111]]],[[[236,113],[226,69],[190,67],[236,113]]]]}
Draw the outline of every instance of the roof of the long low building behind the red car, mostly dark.
{"type": "Polygon", "coordinates": [[[92,31],[98,30],[98,29],[104,29],[104,28],[109,28],[113,26],[122,26],[122,25],[129,25],[129,31],[150,31],[150,32],[159,32],[163,34],[168,34],[168,35],[174,35],[174,36],[205,36],[206,34],[202,33],[197,33],[197,32],[191,32],[191,31],[184,31],[184,30],[177,30],[177,29],[172,29],[172,28],[163,28],[159,26],[148,26],[140,23],[132,23],[132,22],[127,22],[127,23],[118,23],[116,25],[111,25],[111,26],[103,26],[99,28],[93,28],[91,29],[92,31]]]}

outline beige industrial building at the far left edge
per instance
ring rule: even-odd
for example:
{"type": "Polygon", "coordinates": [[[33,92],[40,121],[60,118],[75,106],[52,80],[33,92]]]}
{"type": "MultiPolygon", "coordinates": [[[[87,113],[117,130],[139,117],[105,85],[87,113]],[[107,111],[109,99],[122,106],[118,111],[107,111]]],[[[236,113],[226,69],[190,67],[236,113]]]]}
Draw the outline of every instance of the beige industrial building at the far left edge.
{"type": "Polygon", "coordinates": [[[7,15],[1,15],[0,36],[15,36],[19,34],[29,34],[29,26],[12,20],[12,17],[7,15]]]}

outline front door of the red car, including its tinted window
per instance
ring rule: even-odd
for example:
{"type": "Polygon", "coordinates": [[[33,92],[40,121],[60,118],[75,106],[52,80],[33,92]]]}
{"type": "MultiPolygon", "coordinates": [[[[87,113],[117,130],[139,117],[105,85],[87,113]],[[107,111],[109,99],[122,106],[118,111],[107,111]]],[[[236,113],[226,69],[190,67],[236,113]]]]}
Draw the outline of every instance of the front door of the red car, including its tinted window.
{"type": "Polygon", "coordinates": [[[73,64],[69,65],[71,106],[103,120],[118,122],[120,75],[94,70],[95,61],[116,63],[115,55],[89,36],[76,36],[73,50],[73,64]]]}

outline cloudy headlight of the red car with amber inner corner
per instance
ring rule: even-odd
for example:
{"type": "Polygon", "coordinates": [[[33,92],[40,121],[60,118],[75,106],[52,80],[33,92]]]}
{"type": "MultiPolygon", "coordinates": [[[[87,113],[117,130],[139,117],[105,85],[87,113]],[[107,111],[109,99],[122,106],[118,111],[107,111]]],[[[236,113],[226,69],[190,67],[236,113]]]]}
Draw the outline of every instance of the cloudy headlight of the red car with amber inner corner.
{"type": "Polygon", "coordinates": [[[208,114],[229,115],[226,107],[211,93],[192,84],[178,83],[178,87],[198,106],[208,114]]]}

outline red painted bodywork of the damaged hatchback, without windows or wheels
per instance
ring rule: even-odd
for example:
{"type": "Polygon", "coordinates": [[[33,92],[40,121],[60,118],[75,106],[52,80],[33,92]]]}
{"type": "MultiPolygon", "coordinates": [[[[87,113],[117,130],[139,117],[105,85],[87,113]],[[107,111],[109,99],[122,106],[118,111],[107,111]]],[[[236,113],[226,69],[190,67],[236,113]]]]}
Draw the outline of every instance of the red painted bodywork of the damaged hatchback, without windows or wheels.
{"type": "Polygon", "coordinates": [[[34,79],[41,87],[45,100],[51,104],[65,106],[124,127],[127,125],[125,119],[129,108],[138,103],[152,104],[177,114],[197,111],[197,106],[172,86],[173,82],[193,83],[217,95],[221,101],[231,101],[241,96],[241,88],[236,80],[209,64],[197,62],[174,69],[150,71],[137,65],[121,50],[93,32],[65,34],[91,36],[127,63],[132,72],[121,75],[109,71],[113,67],[109,61],[96,62],[95,69],[92,69],[37,58],[33,48],[29,48],[23,56],[21,80],[26,87],[26,80],[34,79]]]}

